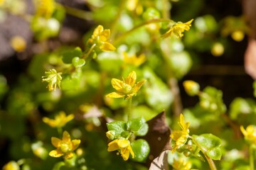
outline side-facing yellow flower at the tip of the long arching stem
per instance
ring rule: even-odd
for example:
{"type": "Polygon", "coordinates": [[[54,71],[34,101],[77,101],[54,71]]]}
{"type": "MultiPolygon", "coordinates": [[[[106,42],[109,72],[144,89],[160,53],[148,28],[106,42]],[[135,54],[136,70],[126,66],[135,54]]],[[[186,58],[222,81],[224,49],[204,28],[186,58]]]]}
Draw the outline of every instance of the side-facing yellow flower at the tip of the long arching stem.
{"type": "Polygon", "coordinates": [[[176,38],[181,38],[183,37],[183,32],[185,30],[189,30],[191,27],[191,23],[192,23],[193,19],[191,19],[191,21],[188,21],[186,23],[174,23],[173,26],[171,26],[171,28],[164,33],[164,35],[161,35],[163,38],[167,38],[167,37],[171,37],[171,35],[174,35],[176,38]]]}

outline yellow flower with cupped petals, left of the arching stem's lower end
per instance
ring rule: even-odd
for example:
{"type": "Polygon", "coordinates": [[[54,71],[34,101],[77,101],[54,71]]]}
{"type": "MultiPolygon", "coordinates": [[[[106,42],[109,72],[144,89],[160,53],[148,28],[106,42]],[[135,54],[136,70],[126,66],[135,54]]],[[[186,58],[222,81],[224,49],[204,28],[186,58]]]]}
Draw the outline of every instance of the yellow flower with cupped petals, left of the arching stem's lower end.
{"type": "Polygon", "coordinates": [[[97,26],[92,33],[92,38],[88,40],[91,44],[96,44],[102,51],[114,51],[116,48],[109,41],[110,29],[104,29],[103,26],[97,26]]]}

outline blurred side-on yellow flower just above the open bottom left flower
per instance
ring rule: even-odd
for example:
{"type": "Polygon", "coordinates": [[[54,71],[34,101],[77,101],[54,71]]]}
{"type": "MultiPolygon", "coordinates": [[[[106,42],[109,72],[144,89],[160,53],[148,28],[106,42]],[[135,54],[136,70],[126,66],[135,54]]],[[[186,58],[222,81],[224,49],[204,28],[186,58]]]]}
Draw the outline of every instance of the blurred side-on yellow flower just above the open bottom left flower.
{"type": "Polygon", "coordinates": [[[53,128],[62,128],[70,120],[73,120],[73,118],[74,118],[73,114],[66,116],[65,112],[60,111],[60,113],[55,116],[55,119],[49,119],[44,117],[43,122],[50,125],[53,128]]]}

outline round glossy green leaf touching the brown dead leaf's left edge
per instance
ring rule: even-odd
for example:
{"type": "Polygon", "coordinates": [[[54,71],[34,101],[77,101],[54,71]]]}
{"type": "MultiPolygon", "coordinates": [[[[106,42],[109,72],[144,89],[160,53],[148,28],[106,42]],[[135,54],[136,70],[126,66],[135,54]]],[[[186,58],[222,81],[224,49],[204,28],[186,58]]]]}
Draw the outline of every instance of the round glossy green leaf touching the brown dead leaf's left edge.
{"type": "Polygon", "coordinates": [[[150,152],[150,147],[148,142],[146,142],[146,140],[139,139],[132,142],[131,146],[134,152],[133,160],[136,162],[144,162],[150,152]]]}

